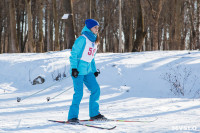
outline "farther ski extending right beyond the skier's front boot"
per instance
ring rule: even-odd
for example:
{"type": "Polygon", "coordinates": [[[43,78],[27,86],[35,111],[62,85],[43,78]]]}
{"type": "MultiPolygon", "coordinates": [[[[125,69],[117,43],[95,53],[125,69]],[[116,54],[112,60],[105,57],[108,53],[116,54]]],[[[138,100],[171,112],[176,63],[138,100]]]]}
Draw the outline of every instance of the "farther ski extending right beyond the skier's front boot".
{"type": "Polygon", "coordinates": [[[80,122],[84,122],[84,121],[114,121],[114,122],[144,122],[144,123],[149,123],[149,122],[154,122],[156,121],[158,118],[151,120],[151,121],[146,121],[146,120],[115,120],[115,119],[106,119],[106,120],[91,120],[91,119],[87,119],[87,120],[79,120],[80,122]]]}

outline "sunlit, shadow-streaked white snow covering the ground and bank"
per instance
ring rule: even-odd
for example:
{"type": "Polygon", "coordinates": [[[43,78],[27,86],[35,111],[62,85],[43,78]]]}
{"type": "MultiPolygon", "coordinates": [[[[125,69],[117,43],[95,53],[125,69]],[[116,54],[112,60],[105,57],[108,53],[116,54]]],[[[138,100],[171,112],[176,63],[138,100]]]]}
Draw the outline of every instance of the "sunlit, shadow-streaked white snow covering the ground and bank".
{"type": "MultiPolygon", "coordinates": [[[[157,119],[151,123],[87,122],[116,125],[111,131],[48,121],[67,120],[73,96],[69,56],[70,50],[0,55],[0,133],[200,131],[200,51],[98,53],[101,114],[122,120],[157,119]],[[38,76],[45,82],[32,85],[38,76]],[[173,85],[182,87],[184,95],[173,85]]],[[[79,119],[89,118],[89,96],[85,87],[79,119]]]]}

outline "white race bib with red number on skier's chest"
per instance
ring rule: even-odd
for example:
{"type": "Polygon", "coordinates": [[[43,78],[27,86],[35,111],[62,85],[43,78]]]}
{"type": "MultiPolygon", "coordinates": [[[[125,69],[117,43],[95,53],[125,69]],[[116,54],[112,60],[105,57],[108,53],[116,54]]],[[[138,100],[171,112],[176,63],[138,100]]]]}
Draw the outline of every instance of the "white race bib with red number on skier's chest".
{"type": "Polygon", "coordinates": [[[83,50],[81,60],[86,61],[86,62],[91,62],[97,51],[97,45],[95,45],[95,43],[91,42],[85,35],[83,35],[83,36],[86,38],[86,45],[83,50]]]}

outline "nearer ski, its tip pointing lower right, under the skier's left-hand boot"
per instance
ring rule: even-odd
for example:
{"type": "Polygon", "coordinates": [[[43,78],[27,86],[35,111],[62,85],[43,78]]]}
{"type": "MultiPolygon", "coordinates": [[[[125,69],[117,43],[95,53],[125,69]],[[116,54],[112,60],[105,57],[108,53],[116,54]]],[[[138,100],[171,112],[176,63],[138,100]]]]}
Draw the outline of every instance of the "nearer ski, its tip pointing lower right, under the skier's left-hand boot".
{"type": "Polygon", "coordinates": [[[100,127],[100,126],[84,124],[84,123],[73,124],[73,123],[69,123],[68,121],[57,121],[57,120],[48,120],[48,121],[56,122],[56,123],[63,123],[63,124],[70,124],[70,125],[81,125],[81,126],[92,127],[92,128],[97,128],[97,129],[106,129],[106,130],[112,130],[112,129],[116,128],[116,126],[113,126],[113,127],[100,127]]]}

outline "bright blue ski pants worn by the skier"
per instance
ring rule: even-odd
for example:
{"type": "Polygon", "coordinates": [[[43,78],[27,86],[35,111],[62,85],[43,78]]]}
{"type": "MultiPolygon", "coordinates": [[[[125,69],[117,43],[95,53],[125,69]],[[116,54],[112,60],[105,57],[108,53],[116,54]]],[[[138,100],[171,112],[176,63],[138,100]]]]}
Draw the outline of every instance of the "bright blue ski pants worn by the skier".
{"type": "Polygon", "coordinates": [[[89,116],[94,117],[99,114],[99,97],[100,97],[100,87],[96,81],[94,73],[89,73],[87,75],[79,75],[77,78],[73,79],[74,85],[74,95],[72,104],[68,113],[68,120],[72,118],[78,118],[79,105],[83,97],[83,83],[86,85],[90,91],[89,100],[89,116]]]}

